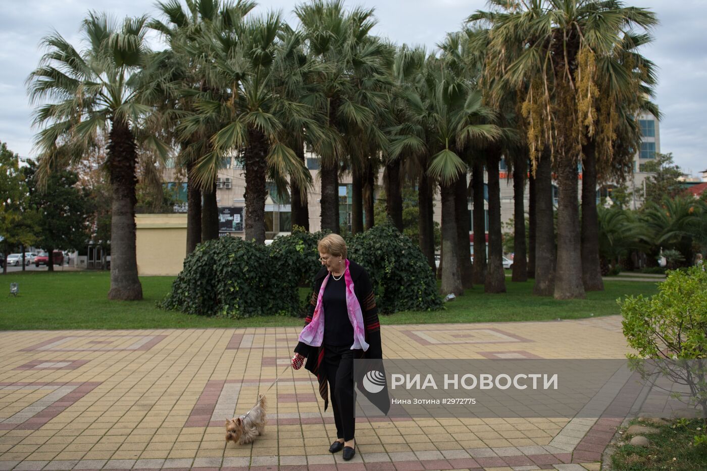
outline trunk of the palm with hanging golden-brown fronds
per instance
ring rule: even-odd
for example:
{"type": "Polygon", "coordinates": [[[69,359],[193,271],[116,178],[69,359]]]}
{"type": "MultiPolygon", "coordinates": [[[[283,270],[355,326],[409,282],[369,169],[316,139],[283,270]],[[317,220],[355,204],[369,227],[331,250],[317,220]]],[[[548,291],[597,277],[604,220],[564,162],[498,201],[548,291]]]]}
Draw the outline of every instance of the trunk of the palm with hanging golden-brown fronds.
{"type": "Polygon", "coordinates": [[[558,172],[557,265],[555,299],[584,298],[577,162],[560,156],[558,172]]]}

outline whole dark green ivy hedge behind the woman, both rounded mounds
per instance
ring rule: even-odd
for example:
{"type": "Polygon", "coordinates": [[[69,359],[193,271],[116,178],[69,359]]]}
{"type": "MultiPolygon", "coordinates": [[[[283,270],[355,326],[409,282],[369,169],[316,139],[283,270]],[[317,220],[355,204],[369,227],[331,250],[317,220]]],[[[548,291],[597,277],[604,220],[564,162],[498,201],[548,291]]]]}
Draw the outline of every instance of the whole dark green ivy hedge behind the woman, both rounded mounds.
{"type": "MultiPolygon", "coordinates": [[[[298,288],[312,286],[321,268],[317,241],[325,235],[296,228],[269,246],[233,237],[201,243],[158,306],[226,318],[303,317],[310,296],[300,303],[298,288]]],[[[375,226],[346,245],[349,259],[366,268],[381,313],[443,308],[421,250],[392,225],[375,226]]]]}

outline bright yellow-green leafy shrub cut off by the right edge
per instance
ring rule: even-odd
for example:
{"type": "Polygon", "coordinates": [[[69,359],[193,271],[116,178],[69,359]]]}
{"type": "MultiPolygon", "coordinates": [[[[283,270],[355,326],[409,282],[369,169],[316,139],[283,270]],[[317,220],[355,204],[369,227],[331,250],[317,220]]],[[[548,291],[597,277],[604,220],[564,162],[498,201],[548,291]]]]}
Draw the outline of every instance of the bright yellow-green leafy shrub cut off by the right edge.
{"type": "Polygon", "coordinates": [[[658,371],[688,385],[691,402],[707,414],[707,273],[697,267],[668,272],[655,296],[629,296],[619,304],[624,335],[638,351],[629,359],[667,360],[658,371]]]}

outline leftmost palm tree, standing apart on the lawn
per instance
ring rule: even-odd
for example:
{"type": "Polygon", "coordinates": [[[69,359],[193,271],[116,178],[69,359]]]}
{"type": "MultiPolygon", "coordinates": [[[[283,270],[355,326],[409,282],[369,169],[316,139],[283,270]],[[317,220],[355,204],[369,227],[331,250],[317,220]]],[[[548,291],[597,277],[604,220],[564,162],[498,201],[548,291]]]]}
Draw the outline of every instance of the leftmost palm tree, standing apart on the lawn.
{"type": "MultiPolygon", "coordinates": [[[[122,25],[89,13],[81,32],[88,47],[76,50],[58,33],[47,35],[47,53],[28,78],[31,100],[49,100],[35,112],[41,169],[55,168],[62,152],[76,163],[100,132],[107,132],[107,171],[112,191],[111,265],[108,298],[142,298],[135,254],[136,134],[150,107],[144,91],[163,59],[148,50],[146,17],[122,25]],[[62,151],[64,149],[64,151],[62,151]]],[[[156,139],[148,139],[156,144],[156,139]]],[[[165,150],[163,148],[160,148],[165,150]]]]}

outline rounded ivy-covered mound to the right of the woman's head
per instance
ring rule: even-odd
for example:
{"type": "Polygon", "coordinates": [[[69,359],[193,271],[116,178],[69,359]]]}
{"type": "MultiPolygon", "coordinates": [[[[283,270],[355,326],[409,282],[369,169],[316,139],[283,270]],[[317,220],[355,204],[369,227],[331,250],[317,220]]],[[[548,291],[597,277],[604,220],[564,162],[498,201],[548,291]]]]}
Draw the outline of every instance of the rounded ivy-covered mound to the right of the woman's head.
{"type": "Polygon", "coordinates": [[[349,259],[366,268],[378,310],[438,310],[442,298],[425,256],[409,237],[382,224],[346,241],[349,259]]]}

